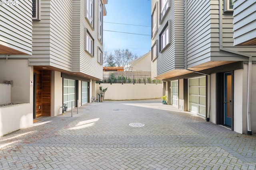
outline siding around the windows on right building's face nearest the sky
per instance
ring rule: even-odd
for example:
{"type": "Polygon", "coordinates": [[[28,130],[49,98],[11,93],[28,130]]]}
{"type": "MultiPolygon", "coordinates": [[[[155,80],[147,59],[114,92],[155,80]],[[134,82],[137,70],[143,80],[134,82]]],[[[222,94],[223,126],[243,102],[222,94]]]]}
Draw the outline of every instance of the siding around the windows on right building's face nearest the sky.
{"type": "MultiPolygon", "coordinates": [[[[152,1],[153,2],[153,1],[152,1]]],[[[155,3],[154,1],[153,3],[155,3]]],[[[184,68],[184,6],[183,0],[170,0],[170,10],[167,16],[160,21],[157,35],[152,39],[152,45],[158,42],[158,57],[152,62],[152,77],[170,72],[175,69],[184,68]],[[169,39],[170,45],[159,52],[160,39],[159,36],[166,23],[169,22],[169,39]]],[[[160,4],[160,2],[158,2],[160,4]]],[[[152,4],[155,5],[155,4],[152,4]]],[[[160,16],[160,5],[158,5],[158,16],[160,16]]]]}

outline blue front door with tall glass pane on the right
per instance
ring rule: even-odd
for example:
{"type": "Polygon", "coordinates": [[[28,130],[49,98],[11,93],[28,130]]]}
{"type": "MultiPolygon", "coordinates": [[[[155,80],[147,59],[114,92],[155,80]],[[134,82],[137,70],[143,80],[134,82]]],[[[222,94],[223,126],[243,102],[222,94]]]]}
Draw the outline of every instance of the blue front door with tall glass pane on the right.
{"type": "Polygon", "coordinates": [[[224,124],[231,127],[232,119],[232,75],[224,73],[224,124]]]}

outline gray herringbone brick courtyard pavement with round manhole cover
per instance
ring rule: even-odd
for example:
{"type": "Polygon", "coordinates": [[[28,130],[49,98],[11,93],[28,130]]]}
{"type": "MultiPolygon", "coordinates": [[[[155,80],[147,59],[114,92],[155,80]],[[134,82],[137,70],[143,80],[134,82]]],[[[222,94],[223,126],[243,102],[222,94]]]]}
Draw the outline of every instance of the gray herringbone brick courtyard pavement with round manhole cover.
{"type": "Polygon", "coordinates": [[[73,117],[68,111],[37,120],[0,138],[1,170],[256,169],[255,134],[238,134],[161,99],[88,103],[73,117]]]}

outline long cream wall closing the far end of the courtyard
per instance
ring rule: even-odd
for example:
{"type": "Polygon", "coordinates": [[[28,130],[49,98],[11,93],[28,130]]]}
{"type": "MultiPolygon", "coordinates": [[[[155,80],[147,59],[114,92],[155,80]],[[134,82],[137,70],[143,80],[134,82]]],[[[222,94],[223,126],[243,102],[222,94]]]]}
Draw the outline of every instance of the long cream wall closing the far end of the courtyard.
{"type": "MultiPolygon", "coordinates": [[[[162,96],[162,83],[160,84],[120,84],[120,83],[101,83],[96,84],[96,92],[99,87],[108,87],[105,92],[104,100],[138,100],[138,99],[154,99],[162,96]]],[[[98,100],[98,96],[96,96],[98,100]]]]}

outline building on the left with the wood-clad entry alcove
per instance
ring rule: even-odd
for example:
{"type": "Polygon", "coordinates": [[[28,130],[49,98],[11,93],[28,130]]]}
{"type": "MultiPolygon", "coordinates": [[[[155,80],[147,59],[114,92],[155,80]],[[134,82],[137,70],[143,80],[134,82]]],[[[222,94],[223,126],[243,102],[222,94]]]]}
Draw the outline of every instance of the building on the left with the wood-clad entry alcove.
{"type": "MultiPolygon", "coordinates": [[[[12,122],[28,126],[40,116],[62,114],[63,104],[71,109],[96,96],[95,82],[103,75],[108,0],[17,2],[0,6],[5,19],[0,24],[0,81],[13,82],[12,103],[29,104],[26,113],[12,122]]],[[[2,122],[13,119],[9,115],[2,122]]],[[[7,133],[16,129],[20,127],[7,133]]]]}

